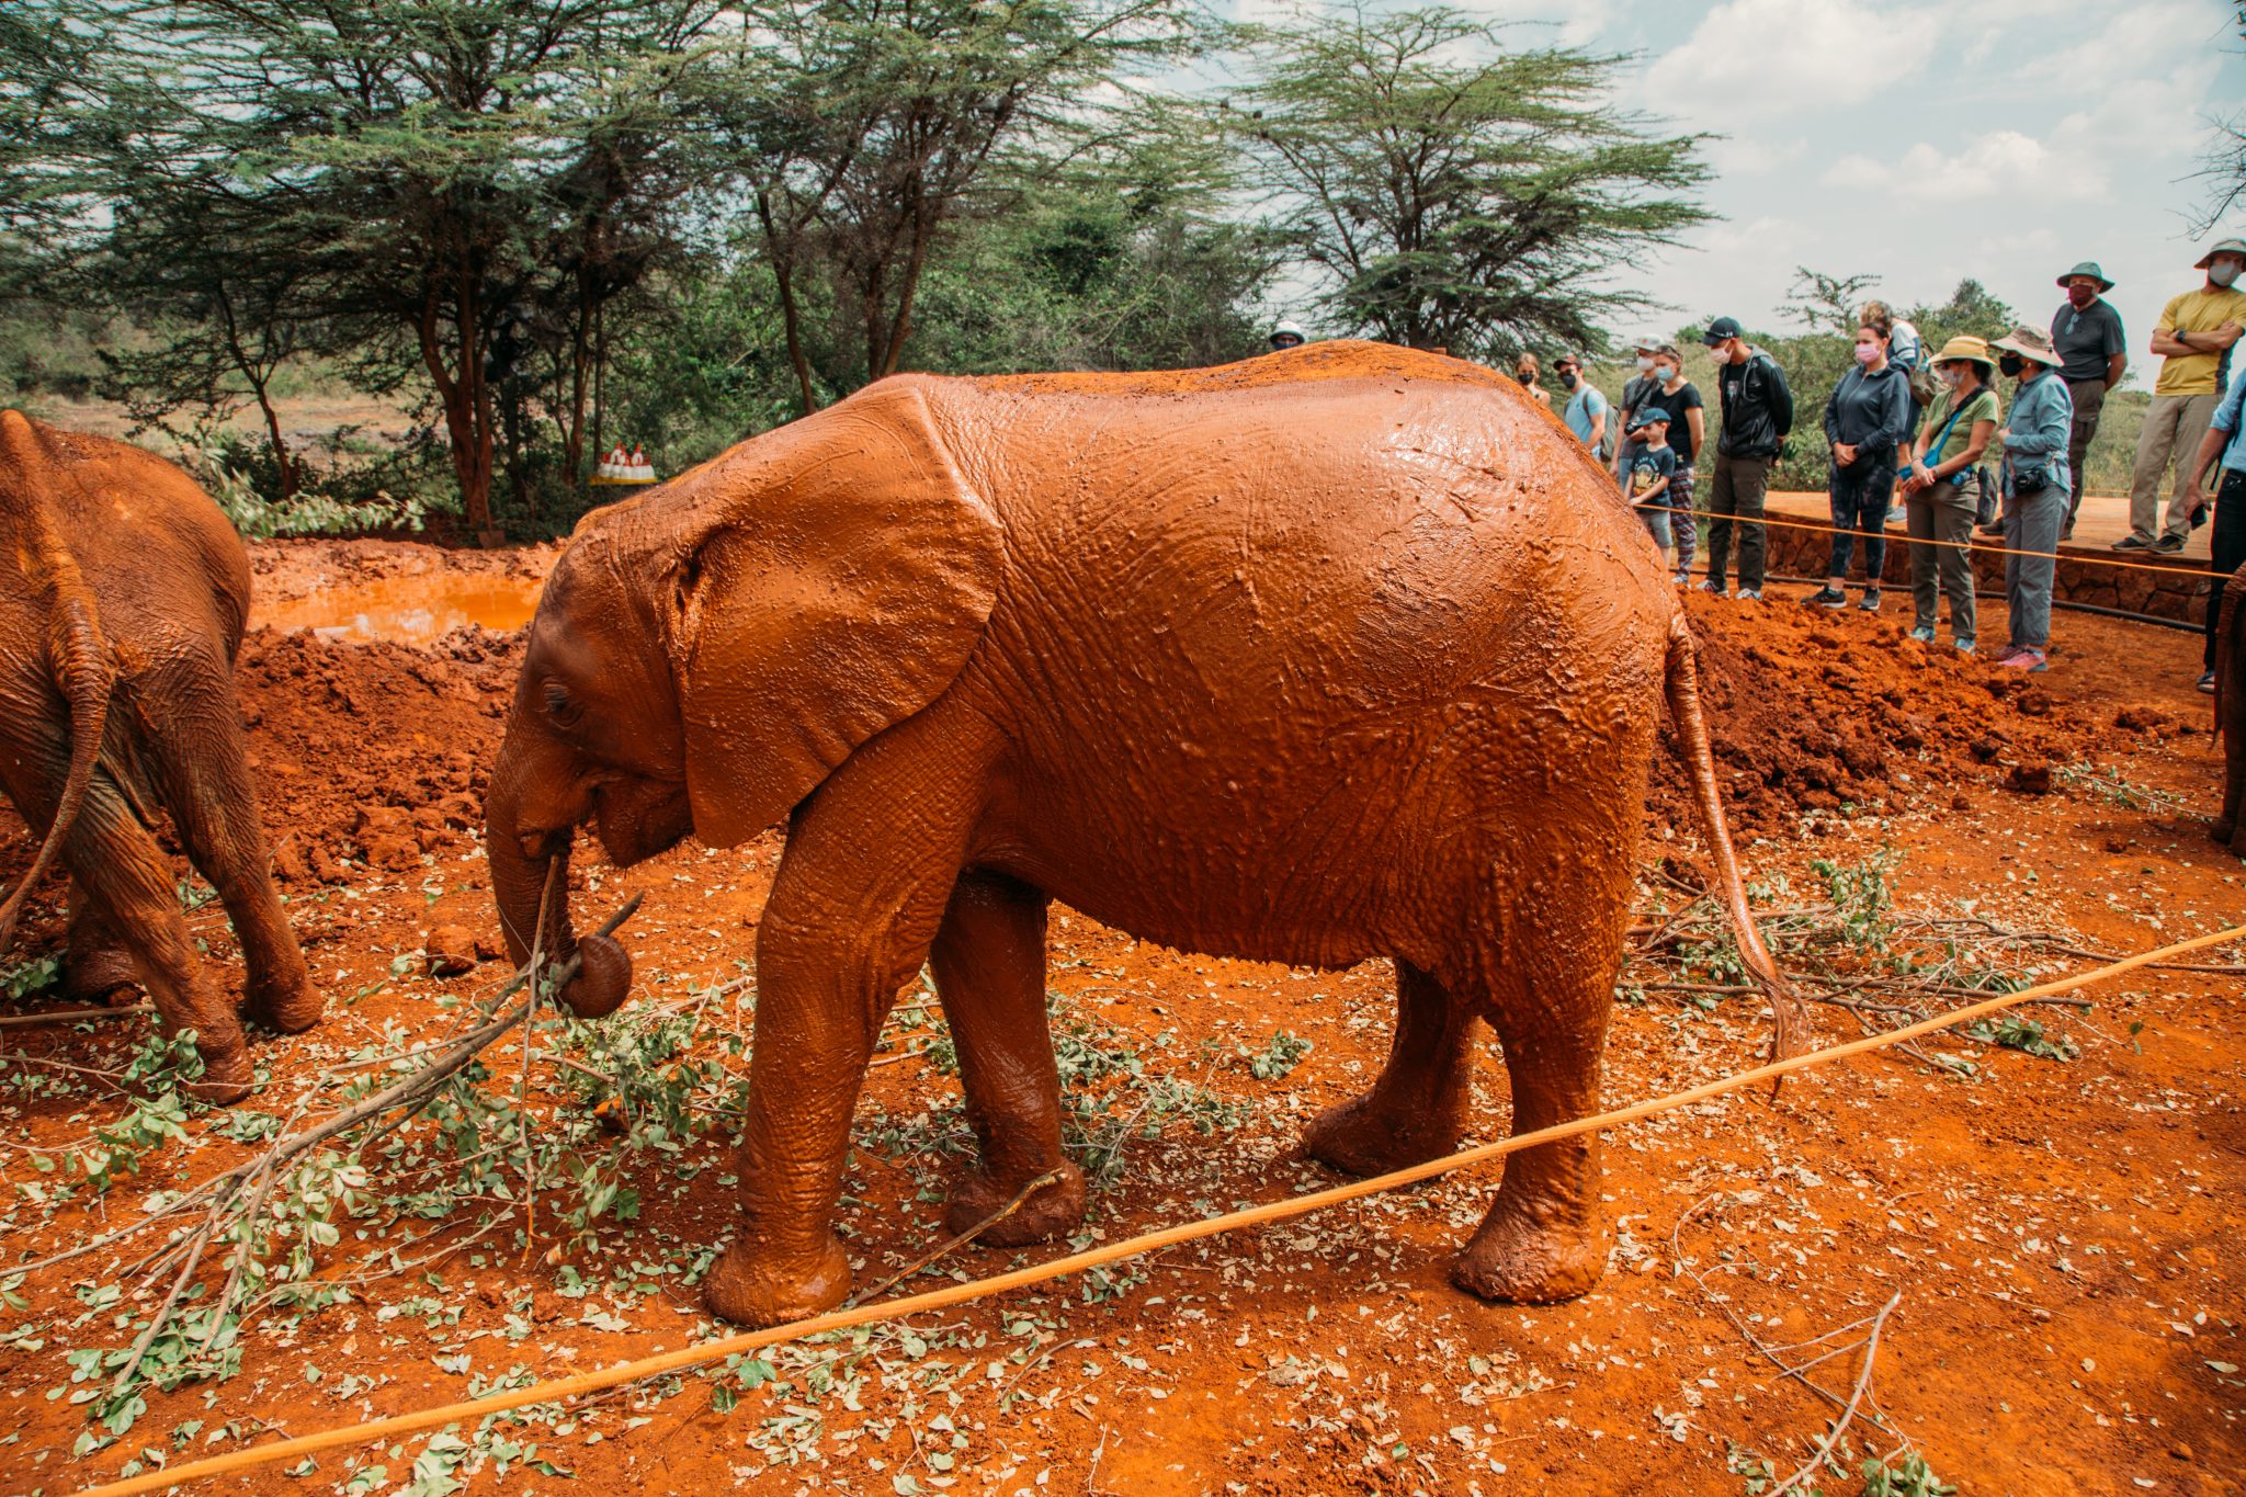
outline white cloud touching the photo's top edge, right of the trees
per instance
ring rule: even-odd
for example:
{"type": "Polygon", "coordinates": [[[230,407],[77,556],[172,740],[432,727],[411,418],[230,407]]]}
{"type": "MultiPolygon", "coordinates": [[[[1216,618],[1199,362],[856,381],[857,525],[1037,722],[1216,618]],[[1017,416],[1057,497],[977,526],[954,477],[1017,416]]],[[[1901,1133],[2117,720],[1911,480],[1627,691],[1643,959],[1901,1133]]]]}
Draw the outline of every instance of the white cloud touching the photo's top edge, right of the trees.
{"type": "MultiPolygon", "coordinates": [[[[1655,72],[1709,121],[1835,110],[1896,97],[1934,49],[1938,7],[1871,0],[1723,0],[1655,72]]],[[[1720,123],[1718,123],[1720,128],[1720,123]]]]}

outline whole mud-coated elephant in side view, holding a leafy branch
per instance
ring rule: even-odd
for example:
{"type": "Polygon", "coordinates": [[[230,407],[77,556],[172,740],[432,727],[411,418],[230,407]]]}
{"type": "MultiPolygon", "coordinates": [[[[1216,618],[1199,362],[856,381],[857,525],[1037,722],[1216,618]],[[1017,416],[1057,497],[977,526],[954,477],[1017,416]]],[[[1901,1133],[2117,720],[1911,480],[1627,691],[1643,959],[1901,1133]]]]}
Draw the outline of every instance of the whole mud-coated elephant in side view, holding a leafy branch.
{"type": "MultiPolygon", "coordinates": [[[[1047,1169],[986,1237],[1078,1219],[1049,900],[1193,952],[1395,958],[1388,1064],[1307,1138],[1339,1169],[1453,1149],[1476,1021],[1516,1131],[1583,1115],[1664,691],[1727,909],[1781,997],[1662,561],[1518,386],[1368,343],[1184,375],[910,375],[579,523],[492,770],[492,887],[521,958],[575,826],[629,864],[788,819],[739,1237],[707,1286],[719,1315],[777,1322],[847,1291],[829,1219],[851,1109],[923,961],[982,1147],[952,1228],[1047,1169]]],[[[544,947],[577,949],[566,909],[544,947]]],[[[586,938],[562,997],[606,1012],[629,974],[586,938]]],[[[1597,1201],[1590,1138],[1514,1156],[1453,1277],[1586,1291],[1597,1201]]]]}

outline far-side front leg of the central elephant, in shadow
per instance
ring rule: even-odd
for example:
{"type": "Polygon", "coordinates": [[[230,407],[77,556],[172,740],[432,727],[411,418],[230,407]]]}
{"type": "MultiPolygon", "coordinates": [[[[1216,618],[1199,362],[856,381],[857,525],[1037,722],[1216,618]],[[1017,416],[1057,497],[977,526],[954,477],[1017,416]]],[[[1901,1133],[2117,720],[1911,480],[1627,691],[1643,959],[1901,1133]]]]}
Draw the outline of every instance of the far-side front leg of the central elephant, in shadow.
{"type": "Polygon", "coordinates": [[[1044,907],[1038,889],[995,873],[964,873],[928,954],[943,1019],[959,1046],[968,1122],[982,1167],[952,1187],[943,1225],[968,1232],[1038,1187],[982,1241],[1002,1248],[1067,1232],[1085,1214],[1085,1176],[1060,1156],[1060,1073],[1044,1019],[1044,907]]]}

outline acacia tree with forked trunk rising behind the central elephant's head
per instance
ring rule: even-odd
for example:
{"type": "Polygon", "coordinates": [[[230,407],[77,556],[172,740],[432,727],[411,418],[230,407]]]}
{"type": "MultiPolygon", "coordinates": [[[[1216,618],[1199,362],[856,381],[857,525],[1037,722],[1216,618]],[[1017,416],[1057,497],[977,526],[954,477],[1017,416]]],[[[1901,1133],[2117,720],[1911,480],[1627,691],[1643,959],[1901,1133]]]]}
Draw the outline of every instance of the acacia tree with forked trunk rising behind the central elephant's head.
{"type": "Polygon", "coordinates": [[[815,294],[829,348],[858,350],[833,384],[896,373],[939,238],[1004,200],[1004,164],[1087,135],[1089,94],[1202,45],[1186,0],[786,0],[757,38],[739,162],[804,411],[815,294]]]}

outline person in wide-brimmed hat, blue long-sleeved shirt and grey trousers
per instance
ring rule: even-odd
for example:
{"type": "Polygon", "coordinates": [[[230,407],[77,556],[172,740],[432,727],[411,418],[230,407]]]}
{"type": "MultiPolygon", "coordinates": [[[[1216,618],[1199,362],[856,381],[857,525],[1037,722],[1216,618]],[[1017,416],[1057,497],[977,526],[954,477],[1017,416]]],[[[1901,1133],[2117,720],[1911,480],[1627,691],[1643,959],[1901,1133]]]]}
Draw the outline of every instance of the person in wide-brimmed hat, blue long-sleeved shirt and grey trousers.
{"type": "Polygon", "coordinates": [[[2066,523],[2066,442],[2075,402],[2057,370],[2064,359],[2035,328],[1990,343],[1997,368],[2019,379],[2003,422],[2003,601],[2012,640],[1997,664],[2042,671],[2051,651],[2051,557],[2066,523]]]}

